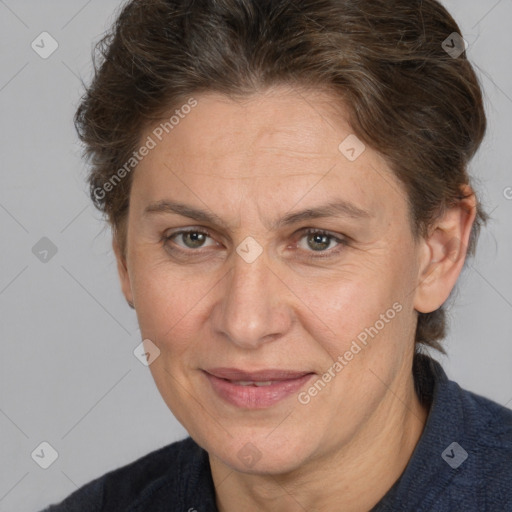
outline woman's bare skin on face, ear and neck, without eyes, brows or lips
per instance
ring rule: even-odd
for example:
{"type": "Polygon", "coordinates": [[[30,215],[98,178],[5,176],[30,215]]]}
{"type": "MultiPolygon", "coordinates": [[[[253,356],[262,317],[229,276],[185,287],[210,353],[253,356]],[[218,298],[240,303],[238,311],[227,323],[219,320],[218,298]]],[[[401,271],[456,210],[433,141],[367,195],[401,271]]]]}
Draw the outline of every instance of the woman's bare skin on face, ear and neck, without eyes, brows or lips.
{"type": "Polygon", "coordinates": [[[369,510],[423,431],[428,409],[411,372],[417,312],[437,309],[455,285],[475,197],[467,187],[468,198],[415,239],[405,190],[385,161],[368,146],[354,162],[338,150],[353,131],[328,92],[273,87],[243,101],[195,98],[135,170],[126,247],[114,240],[123,293],[143,338],[161,351],[150,365],[156,385],[208,451],[221,512],[369,510]],[[339,199],[368,217],[272,225],[339,199]],[[214,213],[223,225],[144,213],[164,200],[214,213]],[[209,235],[164,240],[189,228],[209,235]],[[319,250],[305,228],[346,243],[327,239],[319,250]],[[236,252],[248,236],[263,249],[252,263],[236,252]],[[294,394],[241,410],[201,371],[320,377],[395,303],[400,313],[307,405],[294,394]],[[247,443],[260,457],[251,467],[238,456],[247,443]]]}

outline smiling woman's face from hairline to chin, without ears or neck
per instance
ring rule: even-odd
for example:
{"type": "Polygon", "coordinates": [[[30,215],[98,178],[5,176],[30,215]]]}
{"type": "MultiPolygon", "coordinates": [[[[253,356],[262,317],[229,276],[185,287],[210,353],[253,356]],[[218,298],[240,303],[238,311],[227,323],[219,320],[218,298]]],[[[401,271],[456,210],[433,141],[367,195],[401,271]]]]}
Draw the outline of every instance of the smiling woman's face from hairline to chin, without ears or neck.
{"type": "Polygon", "coordinates": [[[195,100],[141,139],[123,290],[190,435],[240,471],[293,470],[405,413],[424,251],[327,93],[195,100]]]}

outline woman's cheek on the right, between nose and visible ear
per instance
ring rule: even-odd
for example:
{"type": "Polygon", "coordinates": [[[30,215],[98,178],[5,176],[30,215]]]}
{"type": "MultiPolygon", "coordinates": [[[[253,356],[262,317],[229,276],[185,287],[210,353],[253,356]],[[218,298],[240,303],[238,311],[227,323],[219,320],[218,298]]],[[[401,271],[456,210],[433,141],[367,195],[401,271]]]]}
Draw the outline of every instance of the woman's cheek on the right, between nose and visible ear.
{"type": "Polygon", "coordinates": [[[354,371],[400,359],[411,340],[413,321],[403,272],[389,265],[371,272],[354,269],[350,275],[315,283],[307,286],[297,280],[294,290],[305,306],[302,324],[331,360],[346,354],[354,371]]]}

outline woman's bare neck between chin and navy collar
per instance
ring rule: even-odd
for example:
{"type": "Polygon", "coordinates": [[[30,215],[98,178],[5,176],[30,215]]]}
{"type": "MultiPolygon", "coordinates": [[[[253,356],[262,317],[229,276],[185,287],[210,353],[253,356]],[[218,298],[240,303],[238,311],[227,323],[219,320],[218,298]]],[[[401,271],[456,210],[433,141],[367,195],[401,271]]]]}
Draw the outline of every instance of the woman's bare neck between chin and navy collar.
{"type": "Polygon", "coordinates": [[[428,416],[412,374],[405,386],[395,382],[388,391],[350,443],[293,472],[246,474],[210,456],[219,512],[370,510],[403,473],[428,416]],[[406,390],[405,396],[391,388],[406,390]]]}

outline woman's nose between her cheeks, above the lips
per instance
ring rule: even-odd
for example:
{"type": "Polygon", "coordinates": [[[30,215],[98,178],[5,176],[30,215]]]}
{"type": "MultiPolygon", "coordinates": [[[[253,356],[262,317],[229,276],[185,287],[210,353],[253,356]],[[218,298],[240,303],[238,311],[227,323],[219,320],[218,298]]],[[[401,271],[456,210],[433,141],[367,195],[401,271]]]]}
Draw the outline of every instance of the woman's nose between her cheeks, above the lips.
{"type": "Polygon", "coordinates": [[[293,323],[287,303],[290,291],[264,254],[252,263],[236,253],[233,260],[212,312],[213,327],[238,347],[256,349],[289,331],[293,323]]]}

